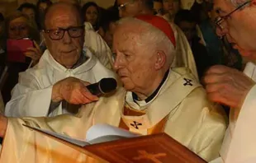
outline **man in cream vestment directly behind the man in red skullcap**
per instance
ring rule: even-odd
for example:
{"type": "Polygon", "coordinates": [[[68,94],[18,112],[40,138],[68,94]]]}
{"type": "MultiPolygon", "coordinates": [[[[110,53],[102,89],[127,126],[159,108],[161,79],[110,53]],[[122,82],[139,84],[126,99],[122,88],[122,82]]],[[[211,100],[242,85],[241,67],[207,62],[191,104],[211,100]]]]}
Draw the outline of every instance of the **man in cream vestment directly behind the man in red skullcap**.
{"type": "MultiPolygon", "coordinates": [[[[151,14],[147,5],[147,0],[117,0],[119,8],[119,16],[136,16],[138,14],[151,14]]],[[[180,30],[172,21],[169,21],[173,28],[173,32],[176,40],[176,56],[173,59],[172,67],[186,67],[192,71],[192,74],[197,77],[197,67],[192,54],[192,49],[187,41],[186,36],[183,34],[183,30],[180,30]]],[[[197,77],[198,78],[198,77],[197,77]]]]}

